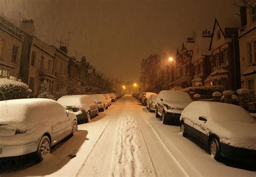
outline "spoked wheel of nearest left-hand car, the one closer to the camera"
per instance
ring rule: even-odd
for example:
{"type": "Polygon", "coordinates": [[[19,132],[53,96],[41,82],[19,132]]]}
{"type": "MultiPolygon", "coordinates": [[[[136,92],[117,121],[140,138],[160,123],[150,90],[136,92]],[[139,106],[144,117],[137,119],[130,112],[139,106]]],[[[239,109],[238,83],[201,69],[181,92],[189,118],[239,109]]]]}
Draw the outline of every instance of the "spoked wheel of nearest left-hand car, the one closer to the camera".
{"type": "Polygon", "coordinates": [[[51,142],[48,136],[44,135],[39,142],[37,148],[37,156],[40,160],[43,160],[45,155],[50,154],[51,142]]]}

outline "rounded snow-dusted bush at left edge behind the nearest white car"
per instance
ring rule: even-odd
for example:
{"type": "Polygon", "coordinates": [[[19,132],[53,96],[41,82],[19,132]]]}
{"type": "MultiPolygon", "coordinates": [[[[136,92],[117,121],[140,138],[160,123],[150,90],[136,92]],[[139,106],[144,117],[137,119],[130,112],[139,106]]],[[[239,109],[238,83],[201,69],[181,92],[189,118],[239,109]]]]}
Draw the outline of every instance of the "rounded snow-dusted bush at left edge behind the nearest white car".
{"type": "Polygon", "coordinates": [[[7,100],[28,98],[31,93],[29,86],[25,83],[6,78],[0,78],[0,90],[7,100]]]}

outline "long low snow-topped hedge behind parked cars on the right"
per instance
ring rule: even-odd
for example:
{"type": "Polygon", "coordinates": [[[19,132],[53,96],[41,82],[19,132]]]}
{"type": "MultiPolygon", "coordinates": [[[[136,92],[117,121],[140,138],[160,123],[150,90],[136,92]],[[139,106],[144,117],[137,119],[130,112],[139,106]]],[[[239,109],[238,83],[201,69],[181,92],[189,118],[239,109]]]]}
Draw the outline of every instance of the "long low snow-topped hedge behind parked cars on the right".
{"type": "Polygon", "coordinates": [[[192,91],[197,94],[212,95],[213,92],[222,93],[224,91],[224,86],[198,86],[198,87],[187,87],[187,88],[173,87],[171,88],[171,90],[182,91],[187,93],[190,93],[192,91]]]}

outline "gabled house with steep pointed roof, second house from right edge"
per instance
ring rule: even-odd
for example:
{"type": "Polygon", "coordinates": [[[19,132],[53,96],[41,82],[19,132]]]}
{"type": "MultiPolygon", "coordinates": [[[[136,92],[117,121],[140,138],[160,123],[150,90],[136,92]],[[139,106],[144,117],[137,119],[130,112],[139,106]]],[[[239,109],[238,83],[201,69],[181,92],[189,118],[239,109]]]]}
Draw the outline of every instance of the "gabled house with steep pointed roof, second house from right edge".
{"type": "Polygon", "coordinates": [[[238,47],[238,19],[215,19],[209,50],[211,73],[205,85],[224,86],[225,90],[240,87],[240,62],[238,47]]]}

